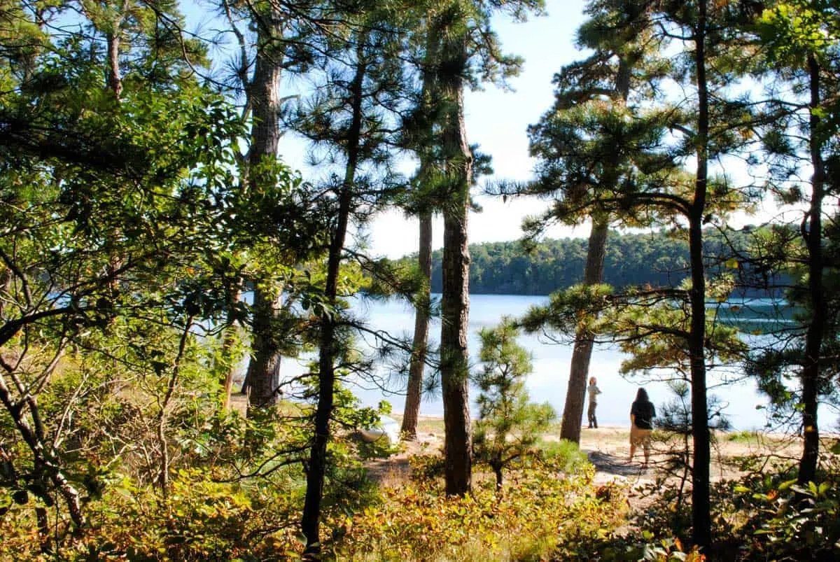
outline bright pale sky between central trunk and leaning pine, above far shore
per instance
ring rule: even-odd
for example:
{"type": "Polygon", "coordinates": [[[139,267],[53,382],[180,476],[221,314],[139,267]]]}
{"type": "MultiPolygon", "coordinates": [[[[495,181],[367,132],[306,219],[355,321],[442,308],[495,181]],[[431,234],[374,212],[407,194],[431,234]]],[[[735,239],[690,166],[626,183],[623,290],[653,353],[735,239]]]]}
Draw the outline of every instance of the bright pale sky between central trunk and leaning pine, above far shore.
{"type": "MultiPolygon", "coordinates": [[[[510,80],[513,92],[488,86],[482,92],[468,92],[465,97],[467,138],[480,144],[483,153],[492,156],[493,176],[485,181],[525,181],[532,177],[533,159],[528,156],[528,125],[537,123],[554,102],[551,79],[561,66],[582,56],[575,49],[575,30],[583,23],[582,0],[547,0],[547,15],[531,17],[527,22],[513,22],[496,16],[494,28],[505,52],[522,56],[522,73],[510,80]]],[[[480,190],[477,190],[480,191],[480,190]]],[[[534,198],[476,197],[481,213],[470,213],[470,244],[515,240],[521,237],[522,218],[540,213],[547,202],[534,198]]],[[[402,213],[383,213],[370,228],[371,251],[375,255],[396,258],[417,251],[417,220],[402,213]]],[[[443,220],[433,224],[433,248],[443,245],[443,220]]],[[[588,236],[588,226],[558,227],[549,231],[552,238],[588,236]]]]}

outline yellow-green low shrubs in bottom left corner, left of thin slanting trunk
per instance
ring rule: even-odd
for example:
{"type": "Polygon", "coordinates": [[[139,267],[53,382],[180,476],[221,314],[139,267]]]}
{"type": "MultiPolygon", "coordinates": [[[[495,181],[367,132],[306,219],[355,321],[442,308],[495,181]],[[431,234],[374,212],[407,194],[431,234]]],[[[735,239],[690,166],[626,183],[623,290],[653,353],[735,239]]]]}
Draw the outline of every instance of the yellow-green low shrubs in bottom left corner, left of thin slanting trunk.
{"type": "Polygon", "coordinates": [[[163,498],[129,478],[114,481],[87,506],[89,526],[78,538],[56,542],[53,554],[25,533],[22,510],[0,521],[4,559],[258,560],[285,558],[299,544],[293,529],[295,495],[283,487],[213,482],[201,470],[179,470],[163,498]],[[42,558],[43,557],[43,558],[42,558]]]}

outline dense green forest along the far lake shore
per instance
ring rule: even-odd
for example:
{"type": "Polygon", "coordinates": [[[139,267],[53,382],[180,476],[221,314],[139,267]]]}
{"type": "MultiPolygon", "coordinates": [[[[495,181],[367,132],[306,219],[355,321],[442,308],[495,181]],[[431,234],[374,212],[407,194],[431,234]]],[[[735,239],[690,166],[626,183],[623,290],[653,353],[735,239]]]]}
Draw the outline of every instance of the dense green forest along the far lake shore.
{"type": "MultiPolygon", "coordinates": [[[[732,270],[739,297],[782,297],[785,278],[756,281],[748,265],[747,236],[752,228],[709,232],[706,262],[709,270],[732,270]],[[734,261],[733,261],[734,260],[734,261]],[[736,265],[737,263],[737,265],[736,265]]],[[[470,292],[486,295],[549,295],[583,281],[587,239],[546,239],[533,249],[519,240],[470,244],[470,292]]],[[[441,291],[443,251],[432,255],[432,292],[441,291]]],[[[416,260],[409,256],[403,260],[416,260]]],[[[612,230],[604,258],[604,282],[616,288],[677,286],[689,274],[685,239],[664,231],[622,234],[612,230]]]]}

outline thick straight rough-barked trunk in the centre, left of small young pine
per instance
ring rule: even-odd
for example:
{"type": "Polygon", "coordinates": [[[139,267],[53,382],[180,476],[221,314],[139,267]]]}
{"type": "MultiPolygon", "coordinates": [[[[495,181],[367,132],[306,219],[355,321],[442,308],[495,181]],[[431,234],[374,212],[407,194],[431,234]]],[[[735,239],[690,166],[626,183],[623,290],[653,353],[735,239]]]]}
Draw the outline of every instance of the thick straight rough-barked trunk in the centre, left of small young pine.
{"type": "Polygon", "coordinates": [[[469,360],[470,249],[467,212],[472,183],[472,152],[464,122],[465,34],[444,34],[440,92],[447,104],[442,131],[449,185],[444,203],[443,296],[441,301],[440,378],[444,399],[446,493],[463,496],[472,486],[470,458],[469,360]]]}

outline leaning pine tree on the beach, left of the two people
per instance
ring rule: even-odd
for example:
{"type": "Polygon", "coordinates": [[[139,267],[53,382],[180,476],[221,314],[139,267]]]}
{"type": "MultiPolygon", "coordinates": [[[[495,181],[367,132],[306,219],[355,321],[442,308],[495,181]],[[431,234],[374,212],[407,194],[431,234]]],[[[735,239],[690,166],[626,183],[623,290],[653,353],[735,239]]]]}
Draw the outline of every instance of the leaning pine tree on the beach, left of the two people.
{"type": "MultiPolygon", "coordinates": [[[[539,195],[554,194],[565,202],[552,208],[542,220],[529,225],[530,236],[537,235],[547,223],[556,220],[576,223],[592,220],[583,283],[596,285],[603,280],[606,236],[611,219],[633,223],[633,215],[609,213],[574,213],[575,198],[589,197],[591,190],[614,189],[633,174],[633,144],[622,138],[622,129],[611,128],[608,119],[613,110],[622,112],[633,96],[639,100],[653,97],[657,83],[667,70],[658,57],[661,39],[651,30],[650,14],[640,4],[620,0],[596,2],[587,8],[591,19],[578,30],[581,49],[595,50],[585,60],[564,67],[556,76],[556,102],[540,123],[529,128],[531,152],[542,160],[538,180],[525,191],[539,195]],[[604,115],[604,108],[610,112],[604,115]],[[599,123],[599,116],[604,120],[599,123]],[[575,161],[571,161],[575,160],[575,161]],[[628,165],[629,164],[629,165],[628,165]],[[581,168],[585,174],[575,174],[581,168]]],[[[632,111],[627,118],[636,118],[632,111]]],[[[569,386],[560,437],[580,442],[586,379],[594,337],[580,328],[575,334],[569,386]]]]}

